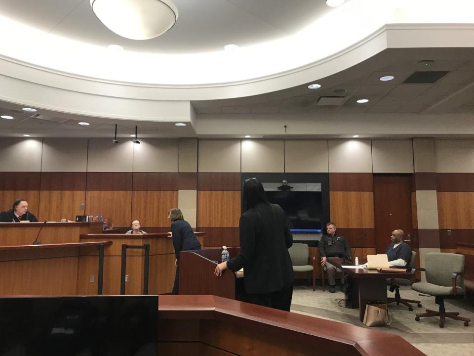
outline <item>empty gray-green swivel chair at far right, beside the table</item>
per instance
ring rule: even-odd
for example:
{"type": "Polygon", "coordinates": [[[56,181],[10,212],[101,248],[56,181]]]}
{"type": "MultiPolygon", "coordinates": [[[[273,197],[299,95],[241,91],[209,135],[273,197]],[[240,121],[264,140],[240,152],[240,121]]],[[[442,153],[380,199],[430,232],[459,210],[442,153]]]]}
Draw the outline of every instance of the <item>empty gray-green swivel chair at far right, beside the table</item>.
{"type": "Polygon", "coordinates": [[[423,316],[439,316],[439,327],[443,327],[446,317],[450,317],[463,320],[464,326],[468,326],[471,319],[459,316],[459,312],[446,312],[444,309],[444,298],[464,296],[464,256],[452,253],[427,253],[425,268],[420,270],[426,272],[426,282],[413,283],[411,289],[435,296],[439,311],[427,309],[425,313],[417,313],[415,320],[420,321],[420,317],[423,316]]]}

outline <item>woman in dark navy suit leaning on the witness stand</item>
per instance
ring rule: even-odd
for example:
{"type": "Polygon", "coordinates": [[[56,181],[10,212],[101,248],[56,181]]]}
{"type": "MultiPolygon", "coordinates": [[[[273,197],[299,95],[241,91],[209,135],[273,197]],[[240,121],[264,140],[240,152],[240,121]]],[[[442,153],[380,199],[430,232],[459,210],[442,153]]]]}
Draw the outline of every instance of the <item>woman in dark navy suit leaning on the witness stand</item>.
{"type": "Polygon", "coordinates": [[[171,294],[179,294],[179,252],[189,250],[200,250],[201,244],[197,241],[191,225],[184,221],[183,213],[178,208],[170,209],[168,219],[171,223],[171,237],[173,237],[174,254],[176,260],[176,275],[174,277],[173,291],[171,294]]]}

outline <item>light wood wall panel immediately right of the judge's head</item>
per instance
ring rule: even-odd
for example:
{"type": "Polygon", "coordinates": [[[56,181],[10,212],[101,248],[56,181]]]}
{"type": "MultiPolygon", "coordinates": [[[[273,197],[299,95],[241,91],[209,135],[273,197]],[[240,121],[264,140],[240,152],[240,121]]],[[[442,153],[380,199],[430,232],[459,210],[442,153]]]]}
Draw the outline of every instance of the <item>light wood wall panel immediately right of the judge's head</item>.
{"type": "Polygon", "coordinates": [[[81,204],[85,205],[85,191],[41,190],[38,221],[75,221],[76,215],[84,215],[81,204]]]}

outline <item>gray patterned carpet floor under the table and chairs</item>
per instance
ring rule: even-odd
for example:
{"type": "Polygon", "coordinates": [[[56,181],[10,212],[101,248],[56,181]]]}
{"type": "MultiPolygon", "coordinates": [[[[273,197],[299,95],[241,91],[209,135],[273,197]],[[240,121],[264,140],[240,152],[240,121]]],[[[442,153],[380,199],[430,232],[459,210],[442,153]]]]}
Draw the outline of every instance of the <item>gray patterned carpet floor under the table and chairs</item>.
{"type": "MultiPolygon", "coordinates": [[[[387,293],[389,297],[394,294],[387,293]]],[[[391,324],[373,329],[399,335],[428,356],[474,356],[474,307],[468,301],[445,300],[444,305],[447,312],[459,312],[461,316],[470,318],[469,326],[464,326],[463,321],[446,318],[444,328],[440,328],[439,318],[425,317],[415,321],[416,312],[438,310],[435,297],[419,296],[418,292],[405,286],[400,287],[400,295],[420,300],[423,306],[418,308],[414,305],[413,312],[410,312],[404,305],[390,304],[391,324]]],[[[313,292],[312,287],[295,286],[291,312],[367,327],[359,321],[358,309],[344,308],[343,299],[344,293],[339,290],[329,293],[316,287],[313,292]]]]}

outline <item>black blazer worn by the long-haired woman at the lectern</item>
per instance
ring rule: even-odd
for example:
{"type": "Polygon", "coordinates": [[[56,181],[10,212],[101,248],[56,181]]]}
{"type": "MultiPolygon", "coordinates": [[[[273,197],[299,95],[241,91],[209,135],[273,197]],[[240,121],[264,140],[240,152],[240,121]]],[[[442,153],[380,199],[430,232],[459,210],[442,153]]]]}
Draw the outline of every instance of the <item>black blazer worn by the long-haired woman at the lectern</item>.
{"type": "Polygon", "coordinates": [[[288,248],[293,236],[279,205],[257,204],[239,221],[240,253],[227,262],[237,271],[244,267],[245,291],[263,294],[280,291],[293,283],[288,248]]]}

